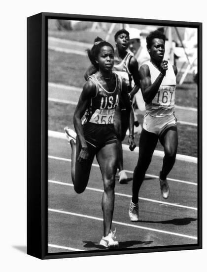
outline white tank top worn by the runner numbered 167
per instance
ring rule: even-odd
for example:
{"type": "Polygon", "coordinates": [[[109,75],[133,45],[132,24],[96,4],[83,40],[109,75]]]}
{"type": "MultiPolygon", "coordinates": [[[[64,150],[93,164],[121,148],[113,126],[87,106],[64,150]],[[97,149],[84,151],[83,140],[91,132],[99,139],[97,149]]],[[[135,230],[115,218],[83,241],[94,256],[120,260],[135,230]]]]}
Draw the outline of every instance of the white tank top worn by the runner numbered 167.
{"type": "MultiPolygon", "coordinates": [[[[150,61],[147,61],[145,64],[149,67],[151,83],[153,84],[160,74],[160,71],[150,61]]],[[[175,87],[176,76],[173,66],[169,63],[166,75],[155,97],[150,103],[146,103],[146,113],[154,117],[163,117],[173,114],[175,87]]]]}

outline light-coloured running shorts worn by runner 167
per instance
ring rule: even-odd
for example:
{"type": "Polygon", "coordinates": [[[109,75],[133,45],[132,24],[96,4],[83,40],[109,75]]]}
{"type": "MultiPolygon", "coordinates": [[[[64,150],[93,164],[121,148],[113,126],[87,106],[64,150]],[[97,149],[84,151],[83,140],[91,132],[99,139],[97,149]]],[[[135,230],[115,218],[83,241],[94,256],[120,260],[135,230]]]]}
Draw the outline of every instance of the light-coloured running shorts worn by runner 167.
{"type": "Polygon", "coordinates": [[[177,118],[174,113],[163,117],[153,117],[149,113],[144,115],[143,129],[158,136],[161,136],[166,129],[176,126],[177,118]]]}

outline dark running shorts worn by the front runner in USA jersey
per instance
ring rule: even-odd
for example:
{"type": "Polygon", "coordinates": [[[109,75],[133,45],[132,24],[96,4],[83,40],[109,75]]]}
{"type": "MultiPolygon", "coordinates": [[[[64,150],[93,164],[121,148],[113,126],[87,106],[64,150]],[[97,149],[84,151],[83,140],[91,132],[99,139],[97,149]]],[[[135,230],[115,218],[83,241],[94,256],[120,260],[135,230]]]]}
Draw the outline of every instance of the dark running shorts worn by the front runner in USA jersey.
{"type": "Polygon", "coordinates": [[[83,134],[86,142],[98,150],[117,141],[113,124],[99,125],[88,122],[83,125],[83,134]]]}

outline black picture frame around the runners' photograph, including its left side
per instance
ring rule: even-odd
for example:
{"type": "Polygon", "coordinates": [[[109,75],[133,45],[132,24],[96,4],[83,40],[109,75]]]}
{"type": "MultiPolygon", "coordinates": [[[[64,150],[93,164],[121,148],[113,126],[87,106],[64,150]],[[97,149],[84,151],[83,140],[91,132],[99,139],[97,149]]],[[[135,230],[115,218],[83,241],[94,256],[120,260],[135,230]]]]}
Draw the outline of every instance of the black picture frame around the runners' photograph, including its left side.
{"type": "Polygon", "coordinates": [[[39,259],[202,248],[202,23],[39,13],[27,19],[27,253],[39,259]],[[193,27],[198,30],[198,240],[195,244],[48,253],[48,20],[193,27]]]}

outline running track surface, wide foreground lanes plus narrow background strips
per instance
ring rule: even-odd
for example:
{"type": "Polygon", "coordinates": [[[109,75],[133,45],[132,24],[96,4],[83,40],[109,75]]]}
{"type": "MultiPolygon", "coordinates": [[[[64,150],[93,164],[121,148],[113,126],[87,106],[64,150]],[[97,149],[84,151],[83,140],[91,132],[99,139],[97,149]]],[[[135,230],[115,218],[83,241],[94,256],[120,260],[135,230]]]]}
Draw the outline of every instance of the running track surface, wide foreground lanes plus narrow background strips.
{"type": "MultiPolygon", "coordinates": [[[[53,49],[59,46],[53,45],[53,49]]],[[[61,45],[61,48],[63,46],[66,45],[61,45]]],[[[78,46],[76,45],[76,48],[78,46]]],[[[80,45],[79,49],[83,51],[83,45],[80,45]]],[[[69,92],[66,91],[67,88],[49,85],[49,98],[76,103],[80,90],[75,91],[72,87],[72,92],[69,92]]],[[[180,114],[184,122],[197,122],[195,109],[177,109],[176,113],[180,114]]],[[[119,248],[197,244],[197,164],[182,160],[175,162],[169,175],[171,194],[164,200],[160,194],[157,177],[162,159],[153,156],[140,189],[140,220],[138,223],[132,223],[129,220],[128,209],[138,153],[128,150],[123,152],[124,166],[129,179],[126,184],[119,184],[118,178],[116,179],[112,223],[112,229],[117,229],[119,248]]],[[[103,235],[103,181],[100,169],[95,160],[88,187],[82,194],[76,194],[70,178],[69,159],[70,147],[67,140],[49,137],[48,253],[103,249],[99,245],[103,235]]]]}

